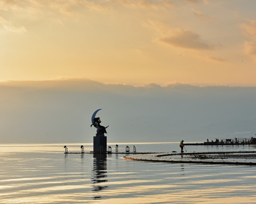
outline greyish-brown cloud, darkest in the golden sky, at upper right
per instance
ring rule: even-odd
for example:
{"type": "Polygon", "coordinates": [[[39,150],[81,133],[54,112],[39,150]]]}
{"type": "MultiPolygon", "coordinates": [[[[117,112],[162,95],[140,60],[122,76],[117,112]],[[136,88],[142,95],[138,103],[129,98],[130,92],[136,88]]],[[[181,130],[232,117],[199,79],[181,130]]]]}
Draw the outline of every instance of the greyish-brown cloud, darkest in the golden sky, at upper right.
{"type": "Polygon", "coordinates": [[[180,48],[212,50],[213,46],[201,39],[200,35],[192,31],[180,30],[172,36],[162,37],[160,42],[180,48]]]}

